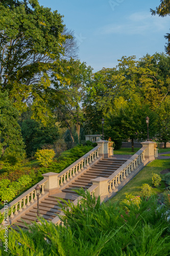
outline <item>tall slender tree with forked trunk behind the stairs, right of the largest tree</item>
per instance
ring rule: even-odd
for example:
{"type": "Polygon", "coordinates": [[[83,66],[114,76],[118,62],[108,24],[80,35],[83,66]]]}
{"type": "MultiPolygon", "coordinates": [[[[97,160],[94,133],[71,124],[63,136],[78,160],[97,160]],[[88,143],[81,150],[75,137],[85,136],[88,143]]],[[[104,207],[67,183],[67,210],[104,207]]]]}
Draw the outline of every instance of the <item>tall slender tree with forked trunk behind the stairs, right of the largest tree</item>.
{"type": "Polygon", "coordinates": [[[55,87],[59,87],[63,99],[60,102],[54,99],[54,106],[57,105],[54,111],[61,125],[68,128],[74,142],[74,126],[76,126],[78,141],[80,139],[80,127],[83,124],[83,113],[86,109],[86,105],[81,106],[81,102],[86,97],[92,68],[87,67],[85,62],[81,63],[80,60],[72,58],[69,61],[64,60],[62,67],[63,79],[58,81],[58,73],[56,73],[57,77],[55,79],[54,76],[53,83],[55,87]]]}

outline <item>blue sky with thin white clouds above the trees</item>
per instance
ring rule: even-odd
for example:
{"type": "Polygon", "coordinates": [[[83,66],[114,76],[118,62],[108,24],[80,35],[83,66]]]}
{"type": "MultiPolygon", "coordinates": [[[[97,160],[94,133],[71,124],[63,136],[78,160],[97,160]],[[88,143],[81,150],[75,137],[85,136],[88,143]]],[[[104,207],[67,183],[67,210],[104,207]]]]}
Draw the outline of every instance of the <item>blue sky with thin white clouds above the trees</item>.
{"type": "Polygon", "coordinates": [[[164,52],[170,17],[152,16],[159,0],[39,0],[39,4],[58,10],[63,23],[75,31],[79,58],[93,72],[117,65],[122,56],[164,52]]]}

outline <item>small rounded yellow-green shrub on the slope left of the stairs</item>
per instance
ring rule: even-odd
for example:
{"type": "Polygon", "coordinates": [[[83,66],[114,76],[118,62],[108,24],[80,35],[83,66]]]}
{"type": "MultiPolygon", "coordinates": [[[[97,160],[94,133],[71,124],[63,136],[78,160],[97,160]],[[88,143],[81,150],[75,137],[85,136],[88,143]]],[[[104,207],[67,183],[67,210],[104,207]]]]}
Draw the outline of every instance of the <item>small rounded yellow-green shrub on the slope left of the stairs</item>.
{"type": "Polygon", "coordinates": [[[55,156],[54,150],[38,150],[35,153],[36,159],[44,167],[48,167],[48,165],[53,161],[54,156],[55,156]]]}

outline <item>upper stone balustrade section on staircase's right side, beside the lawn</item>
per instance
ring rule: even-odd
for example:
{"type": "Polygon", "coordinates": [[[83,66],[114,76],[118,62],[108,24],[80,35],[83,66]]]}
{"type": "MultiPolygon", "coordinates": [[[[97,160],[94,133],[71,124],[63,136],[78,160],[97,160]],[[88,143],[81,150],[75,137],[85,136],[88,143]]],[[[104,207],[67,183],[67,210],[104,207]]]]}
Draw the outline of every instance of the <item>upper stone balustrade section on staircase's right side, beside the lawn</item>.
{"type": "Polygon", "coordinates": [[[145,151],[147,146],[143,146],[137,153],[120,166],[108,180],[108,193],[111,193],[118,185],[124,181],[140,164],[145,161],[145,151]]]}

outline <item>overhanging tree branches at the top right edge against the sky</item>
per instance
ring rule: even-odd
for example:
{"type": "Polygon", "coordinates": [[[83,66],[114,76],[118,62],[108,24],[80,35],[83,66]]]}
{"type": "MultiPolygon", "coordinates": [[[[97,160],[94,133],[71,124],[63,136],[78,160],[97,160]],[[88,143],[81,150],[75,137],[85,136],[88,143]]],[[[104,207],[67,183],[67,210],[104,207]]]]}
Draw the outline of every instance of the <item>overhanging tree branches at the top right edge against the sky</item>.
{"type": "MultiPolygon", "coordinates": [[[[160,0],[160,2],[161,3],[158,7],[156,7],[156,10],[151,9],[152,15],[158,14],[161,17],[169,15],[170,14],[170,3],[169,3],[169,1],[160,0]]],[[[164,37],[168,40],[168,42],[166,43],[166,46],[165,46],[165,51],[166,51],[167,54],[170,54],[170,42],[169,42],[170,41],[170,34],[167,33],[164,37]]]]}

